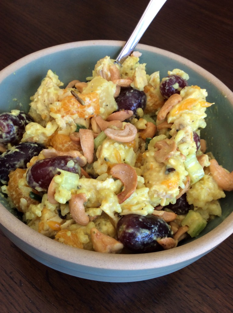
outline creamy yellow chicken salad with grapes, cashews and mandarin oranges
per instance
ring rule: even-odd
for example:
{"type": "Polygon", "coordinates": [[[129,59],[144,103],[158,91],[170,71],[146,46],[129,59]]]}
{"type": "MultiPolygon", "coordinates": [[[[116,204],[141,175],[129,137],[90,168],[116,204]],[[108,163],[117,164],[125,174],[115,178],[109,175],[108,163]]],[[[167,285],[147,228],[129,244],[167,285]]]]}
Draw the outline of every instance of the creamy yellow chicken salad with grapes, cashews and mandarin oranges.
{"type": "Polygon", "coordinates": [[[221,216],[233,190],[200,130],[207,91],[181,69],[146,72],[133,52],[67,86],[48,70],[29,112],[0,114],[0,182],[23,222],[103,253],[175,248],[221,216]]]}

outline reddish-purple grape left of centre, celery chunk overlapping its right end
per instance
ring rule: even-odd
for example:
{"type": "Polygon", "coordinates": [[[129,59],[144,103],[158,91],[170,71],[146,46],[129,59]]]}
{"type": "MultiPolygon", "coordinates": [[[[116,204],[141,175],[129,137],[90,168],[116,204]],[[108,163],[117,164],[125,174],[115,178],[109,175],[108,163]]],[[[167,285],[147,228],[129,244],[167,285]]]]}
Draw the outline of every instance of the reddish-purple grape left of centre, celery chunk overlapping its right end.
{"type": "Polygon", "coordinates": [[[70,156],[54,156],[36,161],[27,171],[27,183],[30,187],[38,191],[47,191],[53,177],[64,170],[79,174],[80,165],[76,158],[70,156]]]}

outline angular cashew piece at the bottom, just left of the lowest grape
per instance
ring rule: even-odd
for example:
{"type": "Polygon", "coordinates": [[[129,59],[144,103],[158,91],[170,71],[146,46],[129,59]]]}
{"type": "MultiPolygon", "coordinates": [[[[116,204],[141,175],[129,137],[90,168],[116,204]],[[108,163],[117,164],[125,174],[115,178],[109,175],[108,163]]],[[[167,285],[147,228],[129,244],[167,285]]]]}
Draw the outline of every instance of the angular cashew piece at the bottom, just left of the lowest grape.
{"type": "Polygon", "coordinates": [[[123,244],[116,239],[101,233],[97,228],[91,228],[91,241],[93,248],[97,252],[102,253],[120,253],[123,244]]]}

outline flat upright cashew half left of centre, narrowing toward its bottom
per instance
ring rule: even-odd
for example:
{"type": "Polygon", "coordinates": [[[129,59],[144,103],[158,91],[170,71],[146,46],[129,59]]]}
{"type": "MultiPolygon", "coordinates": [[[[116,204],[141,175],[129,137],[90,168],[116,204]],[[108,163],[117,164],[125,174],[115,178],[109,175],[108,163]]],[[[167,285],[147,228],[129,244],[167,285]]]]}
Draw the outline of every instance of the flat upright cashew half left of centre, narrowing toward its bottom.
{"type": "Polygon", "coordinates": [[[90,129],[80,129],[80,143],[87,163],[91,164],[94,158],[94,136],[90,129]]]}

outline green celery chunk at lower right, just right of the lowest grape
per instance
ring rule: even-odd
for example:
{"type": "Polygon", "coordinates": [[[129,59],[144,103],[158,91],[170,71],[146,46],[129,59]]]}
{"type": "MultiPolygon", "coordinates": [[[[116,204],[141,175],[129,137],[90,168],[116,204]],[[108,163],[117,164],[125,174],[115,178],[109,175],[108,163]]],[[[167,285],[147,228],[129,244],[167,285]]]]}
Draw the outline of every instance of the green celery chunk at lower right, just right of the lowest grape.
{"type": "Polygon", "coordinates": [[[193,238],[199,235],[201,231],[206,227],[206,220],[200,213],[189,210],[186,217],[182,220],[182,226],[188,226],[187,233],[193,238]]]}

